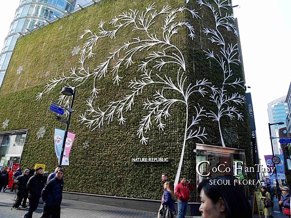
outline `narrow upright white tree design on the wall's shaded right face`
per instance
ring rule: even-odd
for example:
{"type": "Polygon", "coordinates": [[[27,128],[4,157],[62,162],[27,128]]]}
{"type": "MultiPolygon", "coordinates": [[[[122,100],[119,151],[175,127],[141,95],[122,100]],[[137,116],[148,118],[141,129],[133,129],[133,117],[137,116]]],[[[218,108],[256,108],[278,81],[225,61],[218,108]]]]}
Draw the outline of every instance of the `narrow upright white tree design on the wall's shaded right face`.
{"type": "Polygon", "coordinates": [[[218,62],[222,69],[224,80],[219,89],[210,95],[210,101],[215,103],[217,110],[211,110],[207,115],[218,123],[221,143],[223,147],[226,147],[221,130],[221,118],[227,116],[230,119],[237,117],[238,120],[242,120],[242,113],[236,105],[242,105],[245,97],[238,92],[231,93],[227,90],[227,87],[243,88],[244,81],[241,78],[235,78],[232,72],[232,64],[239,65],[240,63],[238,44],[226,45],[221,30],[225,28],[227,31],[233,31],[236,35],[238,32],[232,22],[234,21],[233,15],[227,13],[224,16],[222,15],[223,9],[229,10],[231,8],[229,0],[213,0],[215,3],[214,6],[205,0],[197,0],[197,2],[201,6],[210,8],[215,20],[215,28],[204,28],[203,32],[210,37],[209,40],[211,43],[217,44],[219,53],[215,54],[214,51],[210,51],[209,49],[205,52],[208,58],[218,62]]]}

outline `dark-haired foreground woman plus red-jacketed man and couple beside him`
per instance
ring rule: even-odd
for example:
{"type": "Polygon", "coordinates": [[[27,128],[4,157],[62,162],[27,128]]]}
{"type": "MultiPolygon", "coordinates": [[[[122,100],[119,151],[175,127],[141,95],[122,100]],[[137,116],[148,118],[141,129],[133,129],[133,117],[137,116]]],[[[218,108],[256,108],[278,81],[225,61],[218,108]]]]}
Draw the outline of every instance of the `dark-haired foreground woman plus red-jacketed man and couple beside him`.
{"type": "MultiPolygon", "coordinates": [[[[239,187],[234,185],[211,185],[207,178],[197,187],[201,205],[199,211],[202,218],[251,218],[252,212],[249,202],[239,187]]],[[[215,177],[214,179],[226,180],[226,177],[215,177]]],[[[163,194],[162,204],[159,209],[159,217],[185,218],[188,201],[194,186],[186,176],[182,176],[180,183],[175,187],[168,180],[168,174],[162,174],[163,194]],[[178,212],[176,213],[175,201],[178,200],[178,212]]]]}

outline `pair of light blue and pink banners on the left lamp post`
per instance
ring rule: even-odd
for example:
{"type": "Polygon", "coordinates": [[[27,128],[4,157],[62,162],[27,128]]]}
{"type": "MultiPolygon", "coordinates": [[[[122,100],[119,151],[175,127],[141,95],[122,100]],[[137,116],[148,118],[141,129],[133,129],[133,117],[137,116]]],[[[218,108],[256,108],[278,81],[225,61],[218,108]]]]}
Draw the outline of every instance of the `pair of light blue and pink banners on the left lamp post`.
{"type": "MultiPolygon", "coordinates": [[[[73,145],[73,141],[75,139],[76,134],[72,132],[68,132],[67,138],[65,140],[65,149],[64,149],[64,156],[62,160],[62,165],[69,165],[69,155],[73,145]]],[[[60,162],[60,156],[62,152],[63,140],[65,138],[65,130],[55,128],[55,135],[54,135],[54,146],[56,156],[58,157],[58,162],[60,162]]]]}

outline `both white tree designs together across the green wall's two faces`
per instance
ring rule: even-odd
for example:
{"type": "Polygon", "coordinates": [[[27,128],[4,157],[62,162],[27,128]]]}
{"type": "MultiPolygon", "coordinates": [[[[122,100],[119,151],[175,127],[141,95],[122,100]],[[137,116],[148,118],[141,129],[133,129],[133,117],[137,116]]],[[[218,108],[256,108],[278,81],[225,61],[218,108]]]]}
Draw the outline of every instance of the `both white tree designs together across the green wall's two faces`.
{"type": "MultiPolygon", "coordinates": [[[[214,7],[210,6],[209,3],[202,0],[198,2],[214,10],[214,7]]],[[[215,2],[217,3],[220,13],[220,8],[226,7],[223,4],[223,2],[226,1],[220,2],[219,0],[215,0],[215,2]]],[[[207,134],[205,128],[200,124],[201,118],[209,115],[213,120],[219,123],[222,116],[227,115],[232,118],[233,114],[237,113],[238,117],[241,119],[242,115],[235,107],[225,107],[230,102],[242,104],[241,98],[243,98],[239,94],[233,94],[232,97],[228,97],[225,88],[227,85],[235,86],[242,83],[240,80],[229,82],[232,78],[230,63],[236,63],[238,61],[234,59],[237,53],[237,45],[226,46],[224,41],[222,41],[222,35],[217,29],[219,26],[230,29],[233,27],[232,29],[235,31],[234,26],[228,22],[228,20],[231,19],[230,16],[225,16],[223,19],[220,19],[214,10],[213,14],[217,22],[216,30],[204,29],[205,34],[212,35],[212,39],[210,38],[210,40],[213,43],[218,42],[218,46],[223,45],[221,49],[222,57],[215,56],[213,51],[206,51],[209,58],[217,60],[224,70],[225,81],[222,84],[222,88],[218,89],[206,78],[196,80],[194,84],[192,84],[184,75],[186,71],[185,59],[181,50],[174,44],[173,36],[177,35],[181,28],[186,28],[189,32],[188,36],[193,40],[195,32],[190,23],[178,21],[178,14],[182,12],[190,13],[193,19],[200,18],[195,10],[190,10],[185,7],[172,9],[169,6],[163,6],[161,10],[157,10],[153,3],[146,7],[145,11],[129,9],[121,15],[114,17],[109,23],[109,26],[111,26],[113,30],[107,30],[105,22],[101,21],[97,33],[86,30],[84,34],[81,35],[80,39],[84,37],[87,38],[81,48],[81,58],[79,59],[78,67],[71,68],[68,74],[63,73],[59,78],[50,79],[43,92],[36,96],[37,100],[41,100],[44,93],[50,93],[50,91],[60,83],[65,83],[66,86],[75,88],[84,84],[88,78],[94,78],[91,96],[86,101],[88,109],[80,116],[80,122],[93,131],[96,128],[101,128],[104,123],[109,124],[113,119],[117,119],[120,125],[126,123],[125,114],[132,109],[137,96],[141,95],[146,88],[152,86],[159,87],[155,94],[153,94],[153,96],[148,96],[148,99],[143,104],[146,115],[143,116],[137,127],[137,135],[142,144],[147,144],[149,138],[146,135],[150,131],[152,125],[156,125],[163,131],[166,126],[165,120],[170,117],[172,106],[176,103],[184,105],[186,122],[175,185],[178,184],[187,140],[195,138],[201,140],[203,143],[203,139],[206,139],[207,134]],[[163,23],[160,22],[162,34],[157,35],[151,27],[157,25],[157,23],[159,24],[161,20],[163,20],[163,23]],[[141,33],[140,37],[135,37],[125,42],[118,47],[118,49],[109,52],[109,57],[107,57],[105,62],[98,64],[94,69],[90,69],[90,67],[86,66],[86,61],[95,55],[94,48],[97,46],[97,43],[103,38],[114,39],[118,36],[118,32],[122,28],[130,28],[132,31],[139,31],[141,33]],[[142,62],[138,62],[141,56],[144,59],[142,62]],[[108,77],[108,73],[110,72],[112,74],[113,84],[116,84],[116,87],[118,87],[123,78],[120,76],[120,67],[125,66],[129,68],[130,65],[135,62],[138,63],[138,71],[141,72],[141,76],[135,77],[129,82],[130,93],[127,93],[119,100],[113,100],[105,108],[100,105],[96,106],[95,100],[98,93],[101,91],[100,88],[97,87],[98,81],[108,77]],[[167,76],[167,72],[164,71],[164,66],[168,64],[178,66],[176,76],[167,76]],[[218,112],[210,111],[206,113],[204,107],[198,103],[195,105],[192,103],[191,108],[194,109],[194,111],[190,111],[190,97],[195,97],[195,94],[206,96],[208,93],[207,90],[211,90],[210,98],[217,103],[218,112]]],[[[75,53],[72,52],[72,55],[74,54],[75,53]]],[[[192,81],[194,81],[194,79],[192,79],[192,81]]],[[[69,100],[68,96],[60,95],[58,103],[68,107],[69,100]]]]}

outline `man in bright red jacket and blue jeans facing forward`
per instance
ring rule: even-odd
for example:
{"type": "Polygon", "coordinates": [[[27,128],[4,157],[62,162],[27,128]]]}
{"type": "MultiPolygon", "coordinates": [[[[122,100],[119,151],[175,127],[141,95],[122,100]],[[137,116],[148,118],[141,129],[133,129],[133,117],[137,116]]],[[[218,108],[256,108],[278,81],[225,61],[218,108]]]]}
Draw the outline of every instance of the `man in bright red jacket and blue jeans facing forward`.
{"type": "Polygon", "coordinates": [[[185,218],[190,191],[193,190],[194,187],[190,181],[187,180],[186,176],[182,176],[181,182],[175,187],[175,195],[178,197],[178,218],[185,218]]]}

